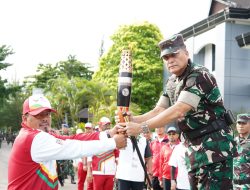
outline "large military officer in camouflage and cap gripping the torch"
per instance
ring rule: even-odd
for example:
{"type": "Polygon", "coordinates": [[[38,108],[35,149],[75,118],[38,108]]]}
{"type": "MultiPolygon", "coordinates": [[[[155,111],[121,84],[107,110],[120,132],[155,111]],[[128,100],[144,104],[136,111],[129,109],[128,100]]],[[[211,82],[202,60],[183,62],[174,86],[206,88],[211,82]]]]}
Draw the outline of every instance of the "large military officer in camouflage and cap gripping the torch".
{"type": "Polygon", "coordinates": [[[237,155],[232,123],[215,77],[189,58],[183,36],[176,34],[159,43],[161,58],[172,74],[155,108],[130,116],[127,135],[162,127],[174,121],[187,144],[186,164],[192,189],[232,189],[233,157],[237,155]]]}

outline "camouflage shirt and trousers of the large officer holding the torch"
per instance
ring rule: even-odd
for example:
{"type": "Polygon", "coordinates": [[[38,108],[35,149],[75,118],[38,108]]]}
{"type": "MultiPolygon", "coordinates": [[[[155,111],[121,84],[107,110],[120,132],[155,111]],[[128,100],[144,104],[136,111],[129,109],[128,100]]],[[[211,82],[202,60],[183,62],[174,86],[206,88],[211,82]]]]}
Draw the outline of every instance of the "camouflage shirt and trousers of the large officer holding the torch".
{"type": "Polygon", "coordinates": [[[192,189],[232,189],[232,158],[237,155],[237,149],[231,128],[225,125],[193,140],[185,136],[215,120],[224,120],[225,108],[214,76],[189,60],[181,76],[169,78],[163,96],[169,99],[170,105],[177,101],[196,104],[178,123],[188,144],[185,159],[192,189]]]}

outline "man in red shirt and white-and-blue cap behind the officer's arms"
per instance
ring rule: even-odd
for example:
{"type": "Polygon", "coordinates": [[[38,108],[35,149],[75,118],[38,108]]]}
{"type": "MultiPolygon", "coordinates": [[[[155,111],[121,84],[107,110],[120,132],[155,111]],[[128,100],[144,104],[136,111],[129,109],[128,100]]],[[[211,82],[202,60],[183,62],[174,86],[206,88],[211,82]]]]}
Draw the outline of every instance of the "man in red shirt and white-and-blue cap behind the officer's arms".
{"type": "MultiPolygon", "coordinates": [[[[175,127],[168,127],[167,129],[169,142],[162,146],[160,152],[160,173],[159,181],[160,185],[163,186],[164,190],[170,190],[171,188],[171,166],[168,165],[171,154],[174,150],[174,147],[179,144],[179,134],[175,127]]],[[[177,174],[177,170],[176,170],[177,174]]],[[[175,175],[176,175],[175,174],[175,175]]],[[[176,176],[175,176],[176,178],[176,176]]]]}

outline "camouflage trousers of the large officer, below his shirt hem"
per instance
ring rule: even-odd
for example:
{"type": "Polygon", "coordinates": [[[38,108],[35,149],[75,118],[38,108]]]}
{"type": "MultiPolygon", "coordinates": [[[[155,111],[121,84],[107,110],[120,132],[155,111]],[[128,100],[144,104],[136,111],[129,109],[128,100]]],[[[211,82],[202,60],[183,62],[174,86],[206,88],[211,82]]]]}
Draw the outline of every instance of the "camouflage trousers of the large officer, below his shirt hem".
{"type": "Polygon", "coordinates": [[[232,190],[233,159],[194,169],[188,177],[191,190],[232,190]]]}

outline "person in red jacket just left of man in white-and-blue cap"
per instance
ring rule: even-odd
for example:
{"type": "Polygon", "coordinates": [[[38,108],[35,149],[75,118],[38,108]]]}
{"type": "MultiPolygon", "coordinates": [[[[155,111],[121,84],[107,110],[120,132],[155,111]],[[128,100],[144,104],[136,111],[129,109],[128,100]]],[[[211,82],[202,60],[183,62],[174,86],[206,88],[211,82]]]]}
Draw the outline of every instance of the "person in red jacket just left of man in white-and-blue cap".
{"type": "Polygon", "coordinates": [[[161,147],[168,142],[168,137],[165,133],[165,127],[156,128],[155,132],[157,137],[150,143],[150,148],[152,152],[152,187],[154,190],[162,190],[159,183],[159,171],[160,171],[160,150],[161,147]]]}

